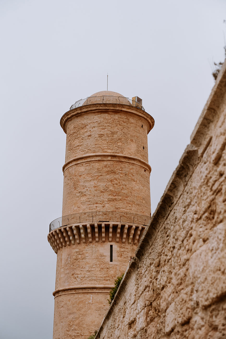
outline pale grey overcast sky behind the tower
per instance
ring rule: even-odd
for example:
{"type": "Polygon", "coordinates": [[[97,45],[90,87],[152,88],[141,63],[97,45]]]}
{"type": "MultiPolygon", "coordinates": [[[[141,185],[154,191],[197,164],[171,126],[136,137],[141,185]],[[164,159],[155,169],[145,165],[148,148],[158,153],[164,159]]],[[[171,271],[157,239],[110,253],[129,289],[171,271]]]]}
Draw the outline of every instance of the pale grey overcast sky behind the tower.
{"type": "Polygon", "coordinates": [[[0,1],[0,338],[53,335],[61,216],[61,116],[106,89],[139,96],[148,136],[152,213],[189,143],[224,60],[225,0],[0,1]]]}

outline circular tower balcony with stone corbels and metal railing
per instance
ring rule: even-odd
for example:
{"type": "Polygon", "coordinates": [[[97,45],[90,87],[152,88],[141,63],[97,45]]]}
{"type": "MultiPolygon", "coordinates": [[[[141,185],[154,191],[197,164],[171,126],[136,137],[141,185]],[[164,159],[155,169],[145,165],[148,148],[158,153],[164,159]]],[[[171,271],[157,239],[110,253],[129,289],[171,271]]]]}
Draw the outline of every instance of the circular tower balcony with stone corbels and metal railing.
{"type": "Polygon", "coordinates": [[[55,253],[63,246],[87,241],[137,244],[149,221],[149,216],[128,212],[70,214],[50,223],[48,242],[55,253]]]}

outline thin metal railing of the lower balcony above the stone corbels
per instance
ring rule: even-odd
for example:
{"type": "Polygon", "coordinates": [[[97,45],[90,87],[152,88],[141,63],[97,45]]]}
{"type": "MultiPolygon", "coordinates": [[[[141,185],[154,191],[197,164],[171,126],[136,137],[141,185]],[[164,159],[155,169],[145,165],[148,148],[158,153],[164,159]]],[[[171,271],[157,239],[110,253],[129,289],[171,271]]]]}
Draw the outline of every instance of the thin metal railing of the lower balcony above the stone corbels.
{"type": "Polygon", "coordinates": [[[149,221],[149,216],[128,212],[82,212],[65,215],[53,220],[49,224],[49,232],[62,226],[86,222],[125,222],[147,226],[149,221]]]}

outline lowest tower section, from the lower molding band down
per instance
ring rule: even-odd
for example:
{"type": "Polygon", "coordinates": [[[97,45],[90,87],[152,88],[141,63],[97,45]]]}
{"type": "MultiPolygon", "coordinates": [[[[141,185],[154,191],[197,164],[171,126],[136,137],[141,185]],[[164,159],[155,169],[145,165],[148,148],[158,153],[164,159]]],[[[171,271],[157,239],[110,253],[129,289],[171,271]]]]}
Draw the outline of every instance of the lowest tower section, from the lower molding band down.
{"type": "Polygon", "coordinates": [[[56,339],[87,339],[100,326],[108,309],[110,288],[71,289],[55,296],[54,334],[56,339]]]}

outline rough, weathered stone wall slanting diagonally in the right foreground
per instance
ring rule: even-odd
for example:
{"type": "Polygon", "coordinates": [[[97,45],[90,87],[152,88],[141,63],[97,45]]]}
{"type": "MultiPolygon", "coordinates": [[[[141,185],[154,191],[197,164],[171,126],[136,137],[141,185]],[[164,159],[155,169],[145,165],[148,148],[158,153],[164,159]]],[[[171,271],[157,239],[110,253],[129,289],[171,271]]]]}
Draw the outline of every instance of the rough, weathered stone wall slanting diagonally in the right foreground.
{"type": "Polygon", "coordinates": [[[96,338],[226,338],[226,64],[96,338]]]}

